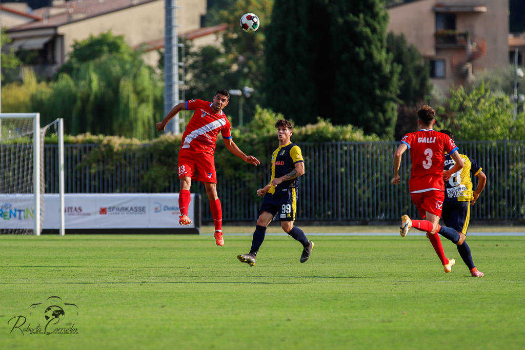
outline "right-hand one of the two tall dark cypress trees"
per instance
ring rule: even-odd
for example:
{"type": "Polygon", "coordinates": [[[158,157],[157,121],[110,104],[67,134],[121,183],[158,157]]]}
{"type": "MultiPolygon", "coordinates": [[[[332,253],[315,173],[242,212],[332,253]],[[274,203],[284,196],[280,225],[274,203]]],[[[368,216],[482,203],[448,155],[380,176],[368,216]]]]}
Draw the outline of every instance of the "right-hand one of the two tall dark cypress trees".
{"type": "Polygon", "coordinates": [[[381,0],[340,0],[330,23],[336,83],[334,124],[351,123],[365,133],[392,137],[397,118],[399,69],[386,52],[388,13],[381,0]],[[350,106],[350,108],[348,108],[350,106]],[[350,114],[346,117],[345,114],[350,114]]]}

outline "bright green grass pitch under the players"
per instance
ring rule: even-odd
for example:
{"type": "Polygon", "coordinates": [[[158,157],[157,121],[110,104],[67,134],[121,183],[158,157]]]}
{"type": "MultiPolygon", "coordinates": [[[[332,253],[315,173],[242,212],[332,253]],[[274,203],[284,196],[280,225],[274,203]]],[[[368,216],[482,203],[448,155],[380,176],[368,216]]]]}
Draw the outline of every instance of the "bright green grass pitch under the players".
{"type": "Polygon", "coordinates": [[[484,278],[445,239],[448,274],[422,236],[310,238],[306,263],[267,236],[248,267],[249,236],[0,236],[0,347],[525,348],[525,237],[468,238],[484,278]],[[78,334],[12,330],[19,315],[44,326],[29,306],[49,296],[78,306],[49,329],[78,334]]]}

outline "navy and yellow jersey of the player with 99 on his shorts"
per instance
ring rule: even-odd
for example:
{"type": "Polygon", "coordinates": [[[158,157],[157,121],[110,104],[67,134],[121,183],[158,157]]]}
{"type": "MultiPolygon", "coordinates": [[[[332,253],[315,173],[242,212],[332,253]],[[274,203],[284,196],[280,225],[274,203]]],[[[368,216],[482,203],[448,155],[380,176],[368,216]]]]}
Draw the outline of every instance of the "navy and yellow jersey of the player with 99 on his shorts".
{"type": "MultiPolygon", "coordinates": [[[[277,150],[271,155],[271,179],[270,183],[274,181],[274,178],[281,177],[293,169],[295,164],[304,162],[302,157],[301,149],[295,143],[288,143],[283,146],[279,146],[277,150]]],[[[281,193],[287,193],[289,188],[299,188],[299,178],[292,178],[291,180],[283,181],[279,185],[271,185],[268,193],[279,195],[281,193]]]]}

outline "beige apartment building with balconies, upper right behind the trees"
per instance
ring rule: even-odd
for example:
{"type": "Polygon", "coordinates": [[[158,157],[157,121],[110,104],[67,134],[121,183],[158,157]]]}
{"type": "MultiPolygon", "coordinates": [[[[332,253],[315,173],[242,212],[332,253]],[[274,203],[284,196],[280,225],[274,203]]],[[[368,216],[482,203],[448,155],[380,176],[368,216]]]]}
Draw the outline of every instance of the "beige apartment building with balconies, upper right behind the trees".
{"type": "Polygon", "coordinates": [[[388,31],[418,48],[442,90],[508,65],[508,0],[414,0],[388,13],[388,31]]]}

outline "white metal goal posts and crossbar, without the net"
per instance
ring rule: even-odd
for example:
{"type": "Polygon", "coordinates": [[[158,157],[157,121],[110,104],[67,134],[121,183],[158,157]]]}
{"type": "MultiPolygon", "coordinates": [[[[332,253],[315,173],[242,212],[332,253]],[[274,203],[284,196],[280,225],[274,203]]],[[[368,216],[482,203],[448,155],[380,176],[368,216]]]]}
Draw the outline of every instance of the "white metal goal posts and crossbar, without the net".
{"type": "MultiPolygon", "coordinates": [[[[44,160],[40,157],[40,113],[0,113],[0,128],[2,126],[2,119],[16,119],[16,118],[30,118],[33,120],[33,192],[34,192],[34,235],[40,236],[40,167],[44,160]]],[[[65,200],[64,200],[64,119],[59,118],[47,125],[57,125],[58,131],[58,192],[59,192],[59,211],[60,211],[60,227],[59,234],[64,236],[65,232],[65,200]]],[[[0,129],[1,130],[1,129],[0,129]]],[[[1,134],[0,134],[1,137],[1,134]]]]}

